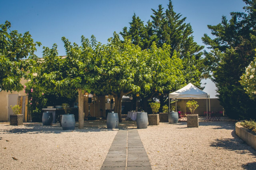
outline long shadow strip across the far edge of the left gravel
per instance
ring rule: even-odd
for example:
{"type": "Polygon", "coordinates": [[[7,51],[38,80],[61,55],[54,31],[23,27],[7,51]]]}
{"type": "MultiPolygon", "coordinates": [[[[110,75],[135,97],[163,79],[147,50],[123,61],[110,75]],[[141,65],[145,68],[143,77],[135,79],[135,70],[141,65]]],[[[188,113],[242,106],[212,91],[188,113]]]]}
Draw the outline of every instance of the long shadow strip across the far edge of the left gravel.
{"type": "MultiPolygon", "coordinates": [[[[9,126],[9,125],[6,125],[9,126]]],[[[0,134],[6,133],[14,133],[14,134],[23,134],[23,133],[31,133],[31,134],[60,134],[67,132],[100,132],[100,131],[113,131],[117,129],[107,129],[102,127],[84,127],[84,129],[75,130],[62,130],[60,126],[19,126],[19,128],[10,127],[9,129],[0,129],[0,134]]]]}

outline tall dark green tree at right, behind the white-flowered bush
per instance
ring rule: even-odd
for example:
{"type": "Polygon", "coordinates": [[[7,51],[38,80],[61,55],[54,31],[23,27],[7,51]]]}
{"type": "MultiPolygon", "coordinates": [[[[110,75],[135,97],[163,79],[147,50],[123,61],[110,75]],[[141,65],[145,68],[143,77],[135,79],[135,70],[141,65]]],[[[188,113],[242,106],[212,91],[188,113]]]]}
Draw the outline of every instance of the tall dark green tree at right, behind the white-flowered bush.
{"type": "Polygon", "coordinates": [[[255,117],[255,102],[250,100],[240,77],[254,58],[255,43],[255,0],[244,0],[248,5],[244,12],[231,12],[231,19],[222,16],[216,26],[208,25],[212,35],[204,34],[202,40],[209,46],[204,51],[205,65],[212,71],[212,81],[217,87],[220,104],[231,118],[255,117]],[[253,10],[254,9],[254,10],[253,10]]]}

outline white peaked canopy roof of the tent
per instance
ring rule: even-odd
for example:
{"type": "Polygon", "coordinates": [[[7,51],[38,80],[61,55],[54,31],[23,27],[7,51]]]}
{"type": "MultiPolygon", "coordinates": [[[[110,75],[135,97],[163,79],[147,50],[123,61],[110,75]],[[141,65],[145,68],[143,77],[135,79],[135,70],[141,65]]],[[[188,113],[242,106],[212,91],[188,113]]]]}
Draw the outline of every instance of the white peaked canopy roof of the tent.
{"type": "Polygon", "coordinates": [[[182,87],[176,92],[169,94],[170,99],[207,99],[210,95],[202,90],[198,89],[196,86],[189,83],[185,87],[182,87]]]}

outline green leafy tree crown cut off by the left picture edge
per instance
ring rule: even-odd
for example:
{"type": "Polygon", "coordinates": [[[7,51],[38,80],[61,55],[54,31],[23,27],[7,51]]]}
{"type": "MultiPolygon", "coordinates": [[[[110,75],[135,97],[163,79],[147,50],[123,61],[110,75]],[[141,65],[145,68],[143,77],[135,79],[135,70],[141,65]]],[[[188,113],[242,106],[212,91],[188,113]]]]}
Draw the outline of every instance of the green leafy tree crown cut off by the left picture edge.
{"type": "Polygon", "coordinates": [[[8,21],[0,25],[0,91],[7,92],[23,89],[20,79],[28,78],[28,72],[33,72],[36,61],[34,52],[36,46],[41,45],[34,42],[29,32],[8,31],[10,28],[8,21]]]}

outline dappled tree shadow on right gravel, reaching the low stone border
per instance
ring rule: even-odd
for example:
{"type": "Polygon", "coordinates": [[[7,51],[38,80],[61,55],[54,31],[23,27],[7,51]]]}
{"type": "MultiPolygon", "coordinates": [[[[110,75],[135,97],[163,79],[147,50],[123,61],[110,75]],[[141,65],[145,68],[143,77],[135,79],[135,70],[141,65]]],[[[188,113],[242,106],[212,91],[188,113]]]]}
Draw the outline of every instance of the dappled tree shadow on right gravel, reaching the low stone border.
{"type": "MultiPolygon", "coordinates": [[[[235,133],[235,132],[233,131],[232,133],[235,133]]],[[[233,138],[233,139],[230,139],[230,138],[216,139],[214,142],[212,142],[212,144],[210,144],[210,146],[215,147],[216,149],[222,148],[225,150],[234,151],[237,154],[249,153],[250,155],[256,158],[256,151],[237,136],[236,138],[233,138]]]]}

